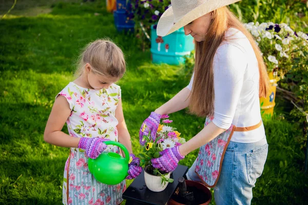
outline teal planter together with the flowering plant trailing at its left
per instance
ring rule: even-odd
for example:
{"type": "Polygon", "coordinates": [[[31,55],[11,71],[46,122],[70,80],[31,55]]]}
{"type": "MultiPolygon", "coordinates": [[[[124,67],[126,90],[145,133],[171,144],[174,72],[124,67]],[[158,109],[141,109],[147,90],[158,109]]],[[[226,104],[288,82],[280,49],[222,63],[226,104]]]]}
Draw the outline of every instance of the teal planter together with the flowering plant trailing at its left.
{"type": "Polygon", "coordinates": [[[148,42],[147,39],[150,40],[153,63],[178,65],[184,63],[183,56],[190,54],[195,46],[192,36],[186,36],[183,28],[168,36],[157,35],[158,20],[164,11],[171,6],[170,4],[170,0],[131,1],[129,17],[141,26],[138,37],[142,38],[142,43],[148,42]],[[148,33],[150,33],[150,36],[148,33]]]}

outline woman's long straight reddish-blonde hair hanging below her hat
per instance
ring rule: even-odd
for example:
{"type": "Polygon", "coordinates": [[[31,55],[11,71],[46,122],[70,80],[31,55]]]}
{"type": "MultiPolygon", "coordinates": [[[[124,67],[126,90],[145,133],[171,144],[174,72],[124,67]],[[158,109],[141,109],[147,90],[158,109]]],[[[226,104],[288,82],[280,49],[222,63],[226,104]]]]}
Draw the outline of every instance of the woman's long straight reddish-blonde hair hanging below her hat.
{"type": "Polygon", "coordinates": [[[213,20],[203,42],[196,42],[195,76],[192,84],[189,111],[198,116],[214,114],[214,71],[213,59],[216,50],[225,40],[229,28],[241,31],[251,43],[259,67],[259,96],[265,97],[268,88],[268,76],[261,51],[254,37],[244,28],[240,20],[227,8],[222,7],[213,12],[213,20]]]}

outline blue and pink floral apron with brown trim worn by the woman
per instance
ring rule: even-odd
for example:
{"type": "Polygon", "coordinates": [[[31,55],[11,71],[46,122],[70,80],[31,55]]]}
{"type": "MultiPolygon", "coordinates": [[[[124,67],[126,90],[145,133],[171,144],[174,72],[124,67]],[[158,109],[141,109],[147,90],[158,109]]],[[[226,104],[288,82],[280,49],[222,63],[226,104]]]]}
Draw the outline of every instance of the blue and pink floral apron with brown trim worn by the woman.
{"type": "MultiPolygon", "coordinates": [[[[205,126],[207,126],[211,120],[213,120],[213,117],[207,117],[205,126]]],[[[233,133],[235,131],[246,132],[255,130],[261,125],[262,120],[257,125],[251,127],[240,128],[231,125],[228,130],[200,148],[195,172],[208,188],[215,187],[218,182],[223,157],[233,133]]]]}

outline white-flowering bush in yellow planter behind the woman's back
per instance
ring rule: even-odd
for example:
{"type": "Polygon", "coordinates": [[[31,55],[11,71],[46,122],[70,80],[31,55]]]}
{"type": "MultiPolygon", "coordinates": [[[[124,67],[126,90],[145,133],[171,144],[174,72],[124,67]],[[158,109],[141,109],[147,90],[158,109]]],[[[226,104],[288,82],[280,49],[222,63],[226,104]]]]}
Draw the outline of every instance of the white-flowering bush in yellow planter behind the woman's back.
{"type": "Polygon", "coordinates": [[[260,99],[262,116],[273,115],[277,81],[285,78],[292,70],[294,60],[304,57],[308,36],[295,32],[286,24],[248,23],[245,28],[252,33],[262,52],[270,80],[270,90],[266,98],[260,99]]]}

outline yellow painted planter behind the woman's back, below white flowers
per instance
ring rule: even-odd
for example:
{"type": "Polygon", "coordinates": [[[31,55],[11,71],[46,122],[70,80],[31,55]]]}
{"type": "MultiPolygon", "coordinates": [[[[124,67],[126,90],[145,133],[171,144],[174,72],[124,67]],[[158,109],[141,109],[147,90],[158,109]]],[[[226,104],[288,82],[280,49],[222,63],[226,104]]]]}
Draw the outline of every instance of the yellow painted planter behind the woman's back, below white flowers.
{"type": "Polygon", "coordinates": [[[261,116],[263,118],[271,118],[274,113],[276,87],[279,78],[274,77],[273,73],[268,73],[269,77],[269,89],[266,98],[260,98],[261,116]]]}

